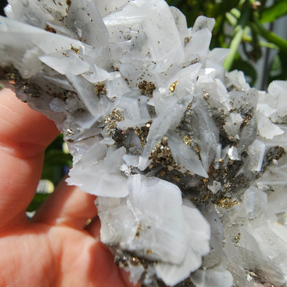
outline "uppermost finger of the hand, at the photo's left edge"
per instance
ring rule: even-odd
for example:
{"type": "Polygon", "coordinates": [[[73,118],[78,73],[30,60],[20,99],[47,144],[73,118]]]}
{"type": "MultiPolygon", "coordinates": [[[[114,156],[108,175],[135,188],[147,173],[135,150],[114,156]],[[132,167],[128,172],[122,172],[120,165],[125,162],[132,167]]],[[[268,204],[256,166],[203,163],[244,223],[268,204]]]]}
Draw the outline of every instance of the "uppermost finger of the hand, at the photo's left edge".
{"type": "Polygon", "coordinates": [[[0,91],[0,230],[26,221],[55,123],[31,110],[12,90],[0,91]]]}

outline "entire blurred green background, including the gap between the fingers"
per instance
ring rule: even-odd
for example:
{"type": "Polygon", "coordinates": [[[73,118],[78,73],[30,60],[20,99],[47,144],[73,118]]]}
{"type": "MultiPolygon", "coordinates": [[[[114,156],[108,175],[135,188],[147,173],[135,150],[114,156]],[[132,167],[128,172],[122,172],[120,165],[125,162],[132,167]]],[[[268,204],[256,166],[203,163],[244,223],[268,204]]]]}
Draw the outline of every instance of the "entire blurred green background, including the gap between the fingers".
{"type": "MultiPolygon", "coordinates": [[[[77,1],[77,0],[76,0],[77,1]]],[[[215,18],[212,48],[230,48],[226,70],[242,70],[250,86],[266,90],[287,79],[287,0],[166,0],[186,15],[192,27],[199,15],[215,18]]],[[[1,1],[1,14],[7,5],[1,1]]],[[[47,148],[42,179],[28,211],[37,210],[68,172],[72,157],[63,137],[47,148]]]]}

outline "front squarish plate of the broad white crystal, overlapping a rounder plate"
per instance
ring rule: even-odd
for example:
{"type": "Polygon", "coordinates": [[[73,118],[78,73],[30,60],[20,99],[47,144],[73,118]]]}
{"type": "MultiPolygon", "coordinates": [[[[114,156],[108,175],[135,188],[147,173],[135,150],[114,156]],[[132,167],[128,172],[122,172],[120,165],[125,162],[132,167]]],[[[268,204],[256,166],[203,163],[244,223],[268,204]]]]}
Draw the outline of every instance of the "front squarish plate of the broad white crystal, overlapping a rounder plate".
{"type": "Polygon", "coordinates": [[[121,199],[119,205],[114,206],[115,209],[103,208],[101,201],[106,206],[110,200],[114,199],[98,200],[104,243],[119,244],[123,250],[136,251],[141,257],[152,260],[171,264],[180,264],[184,260],[187,235],[181,192],[177,186],[155,177],[131,175],[128,179],[128,197],[121,199]],[[125,228],[119,228],[117,222],[107,220],[108,217],[119,217],[119,208],[128,214],[131,226],[126,225],[128,221],[123,221],[125,228]],[[110,235],[112,230],[117,230],[115,241],[110,235]]]}

